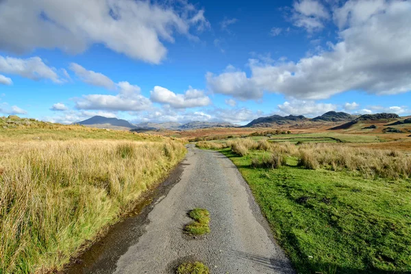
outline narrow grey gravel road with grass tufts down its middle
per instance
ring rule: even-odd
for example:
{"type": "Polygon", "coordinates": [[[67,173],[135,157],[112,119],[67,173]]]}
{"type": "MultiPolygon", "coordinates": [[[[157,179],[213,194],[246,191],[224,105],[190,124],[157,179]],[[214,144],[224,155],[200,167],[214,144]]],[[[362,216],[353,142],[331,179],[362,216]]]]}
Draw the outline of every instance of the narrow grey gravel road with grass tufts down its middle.
{"type": "Polygon", "coordinates": [[[228,158],[190,145],[182,166],[179,182],[154,202],[138,229],[127,232],[128,239],[135,233],[127,250],[111,263],[106,251],[107,260],[99,258],[83,273],[174,273],[187,260],[205,263],[211,273],[295,273],[228,158]],[[183,234],[193,208],[210,211],[207,236],[183,234]]]}

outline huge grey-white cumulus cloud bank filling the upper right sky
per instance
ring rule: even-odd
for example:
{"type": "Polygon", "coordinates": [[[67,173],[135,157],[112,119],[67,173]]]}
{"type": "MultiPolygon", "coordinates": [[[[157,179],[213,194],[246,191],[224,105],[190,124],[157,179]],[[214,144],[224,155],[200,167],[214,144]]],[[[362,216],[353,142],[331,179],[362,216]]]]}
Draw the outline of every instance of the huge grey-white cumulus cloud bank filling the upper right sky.
{"type": "MultiPolygon", "coordinates": [[[[347,1],[345,5],[356,10],[358,5],[352,3],[347,1]]],[[[258,99],[263,90],[309,100],[327,99],[347,90],[378,95],[408,92],[411,90],[411,2],[384,3],[384,12],[369,12],[361,20],[350,19],[353,12],[349,12],[344,21],[347,27],[338,33],[340,42],[329,42],[328,51],[298,62],[269,64],[249,60],[251,77],[242,71],[207,73],[208,86],[216,93],[242,99],[258,99]]],[[[339,16],[338,20],[343,21],[342,18],[339,16]]]]}

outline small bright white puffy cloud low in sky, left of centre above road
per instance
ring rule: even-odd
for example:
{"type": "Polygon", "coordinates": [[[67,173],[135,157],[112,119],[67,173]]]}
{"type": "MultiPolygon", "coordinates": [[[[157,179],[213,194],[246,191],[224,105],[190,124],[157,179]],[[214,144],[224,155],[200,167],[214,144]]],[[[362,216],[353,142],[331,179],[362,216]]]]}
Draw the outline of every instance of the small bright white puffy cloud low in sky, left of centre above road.
{"type": "Polygon", "coordinates": [[[211,104],[210,98],[204,95],[202,90],[196,90],[192,87],[189,87],[182,95],[175,94],[161,86],[155,86],[151,90],[150,99],[156,103],[170,105],[171,108],[195,108],[211,104]]]}

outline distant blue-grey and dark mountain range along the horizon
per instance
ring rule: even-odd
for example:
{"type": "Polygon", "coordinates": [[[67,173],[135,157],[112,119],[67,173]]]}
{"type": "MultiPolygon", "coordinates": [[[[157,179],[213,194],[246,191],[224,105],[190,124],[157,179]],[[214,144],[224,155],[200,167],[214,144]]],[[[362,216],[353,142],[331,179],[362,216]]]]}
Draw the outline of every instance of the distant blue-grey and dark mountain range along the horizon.
{"type": "MultiPolygon", "coordinates": [[[[260,117],[258,119],[254,119],[250,123],[242,127],[275,127],[275,126],[282,126],[282,125],[310,125],[311,127],[316,127],[319,123],[328,125],[330,124],[332,128],[330,129],[347,129],[360,121],[392,121],[395,119],[400,119],[397,114],[390,114],[390,113],[380,113],[380,114],[364,114],[361,116],[358,115],[351,115],[345,112],[335,112],[330,111],[326,112],[321,116],[316,116],[313,119],[309,119],[303,115],[288,115],[288,116],[280,116],[280,115],[272,115],[266,117],[260,117]],[[345,123],[344,123],[345,122],[345,123]],[[335,123],[340,123],[339,125],[335,125],[335,123]],[[343,123],[343,124],[341,124],[343,123]],[[333,126],[334,124],[334,126],[333,126]]],[[[397,121],[395,123],[407,123],[408,121],[397,121]]],[[[77,122],[76,124],[79,125],[86,125],[89,127],[99,127],[99,128],[106,128],[106,129],[128,129],[136,132],[147,132],[147,131],[157,131],[157,130],[190,130],[190,129],[201,129],[201,128],[209,128],[209,127],[240,127],[238,125],[234,125],[232,123],[225,123],[225,122],[203,122],[203,121],[193,121],[189,123],[175,123],[175,122],[167,122],[167,123],[138,123],[132,124],[129,121],[125,121],[123,119],[116,119],[116,118],[106,118],[103,116],[93,116],[90,119],[77,122]]]]}

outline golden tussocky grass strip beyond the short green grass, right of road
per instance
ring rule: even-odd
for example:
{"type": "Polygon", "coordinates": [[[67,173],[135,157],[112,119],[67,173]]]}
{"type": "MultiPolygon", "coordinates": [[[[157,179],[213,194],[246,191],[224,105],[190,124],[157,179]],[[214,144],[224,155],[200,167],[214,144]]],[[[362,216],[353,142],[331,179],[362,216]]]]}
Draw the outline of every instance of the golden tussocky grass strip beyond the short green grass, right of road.
{"type": "Polygon", "coordinates": [[[397,179],[411,175],[411,156],[401,151],[350,147],[345,144],[311,143],[293,145],[290,142],[258,142],[249,138],[229,140],[212,144],[199,142],[197,146],[212,149],[231,147],[234,153],[245,156],[252,150],[271,151],[269,158],[253,158],[253,166],[278,167],[284,163],[283,156],[295,157],[306,169],[331,169],[353,171],[364,177],[397,179]]]}

